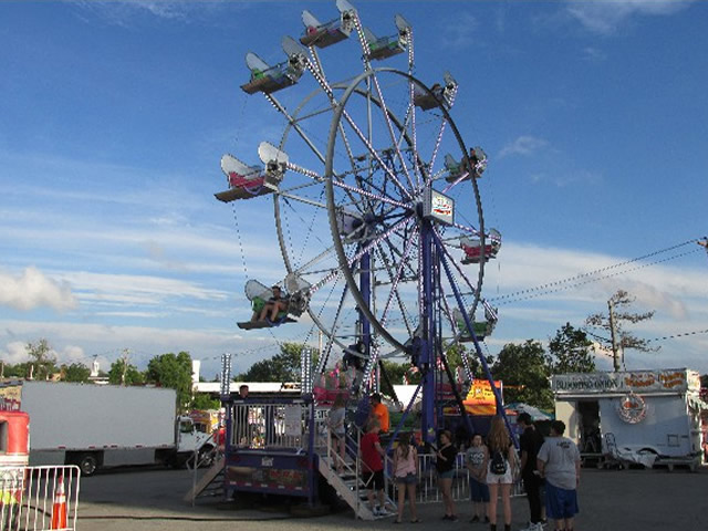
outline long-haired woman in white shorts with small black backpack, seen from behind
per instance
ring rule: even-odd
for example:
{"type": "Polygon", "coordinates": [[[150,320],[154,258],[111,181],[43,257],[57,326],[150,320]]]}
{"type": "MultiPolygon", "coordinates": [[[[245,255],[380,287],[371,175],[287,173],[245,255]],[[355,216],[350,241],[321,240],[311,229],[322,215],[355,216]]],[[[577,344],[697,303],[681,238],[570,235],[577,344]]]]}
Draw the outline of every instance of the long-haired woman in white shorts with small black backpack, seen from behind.
{"type": "Polygon", "coordinates": [[[504,531],[511,531],[511,486],[514,478],[514,448],[503,418],[492,417],[487,435],[489,457],[487,485],[489,486],[489,529],[497,531],[497,499],[501,493],[504,511],[504,531]]]}

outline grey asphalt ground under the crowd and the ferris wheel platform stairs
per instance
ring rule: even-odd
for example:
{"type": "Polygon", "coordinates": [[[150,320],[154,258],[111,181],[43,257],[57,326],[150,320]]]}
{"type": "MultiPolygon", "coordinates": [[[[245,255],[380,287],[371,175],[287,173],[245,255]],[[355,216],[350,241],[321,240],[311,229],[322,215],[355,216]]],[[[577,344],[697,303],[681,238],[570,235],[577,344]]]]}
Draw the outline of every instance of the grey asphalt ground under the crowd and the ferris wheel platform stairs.
{"type": "MultiPolygon", "coordinates": [[[[458,522],[442,521],[441,503],[419,504],[418,524],[393,524],[354,519],[351,510],[300,517],[278,500],[222,502],[183,498],[191,487],[188,470],[122,469],[82,478],[76,530],[90,531],[319,531],[345,529],[487,530],[469,523],[471,506],[458,502],[458,522]]],[[[708,530],[708,469],[595,470],[583,469],[579,488],[576,531],[706,531],[708,530]]],[[[501,510],[501,507],[500,507],[501,510]]],[[[525,527],[525,498],[512,500],[512,530],[525,527]]],[[[406,521],[408,514],[405,516],[406,521]]],[[[499,518],[501,521],[501,514],[499,518]]],[[[503,527],[501,528],[503,529],[503,527]]]]}

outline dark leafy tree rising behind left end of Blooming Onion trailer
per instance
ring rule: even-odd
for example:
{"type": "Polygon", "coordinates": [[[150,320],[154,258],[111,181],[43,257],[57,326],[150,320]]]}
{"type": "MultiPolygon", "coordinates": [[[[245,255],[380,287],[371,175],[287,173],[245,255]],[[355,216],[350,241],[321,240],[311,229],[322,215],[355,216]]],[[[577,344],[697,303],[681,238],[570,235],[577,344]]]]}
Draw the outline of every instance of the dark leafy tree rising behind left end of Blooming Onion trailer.
{"type": "Polygon", "coordinates": [[[549,342],[546,363],[552,374],[592,373],[595,371],[593,342],[584,330],[565,323],[549,342]]]}

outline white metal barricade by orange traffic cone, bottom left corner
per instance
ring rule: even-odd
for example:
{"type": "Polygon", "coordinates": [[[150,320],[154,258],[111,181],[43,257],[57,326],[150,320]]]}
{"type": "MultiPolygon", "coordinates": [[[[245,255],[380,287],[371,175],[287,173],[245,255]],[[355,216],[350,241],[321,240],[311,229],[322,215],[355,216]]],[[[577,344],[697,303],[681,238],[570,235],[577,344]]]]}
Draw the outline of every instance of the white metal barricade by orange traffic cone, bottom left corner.
{"type": "Polygon", "coordinates": [[[75,466],[0,467],[0,530],[75,531],[80,478],[75,466]]]}

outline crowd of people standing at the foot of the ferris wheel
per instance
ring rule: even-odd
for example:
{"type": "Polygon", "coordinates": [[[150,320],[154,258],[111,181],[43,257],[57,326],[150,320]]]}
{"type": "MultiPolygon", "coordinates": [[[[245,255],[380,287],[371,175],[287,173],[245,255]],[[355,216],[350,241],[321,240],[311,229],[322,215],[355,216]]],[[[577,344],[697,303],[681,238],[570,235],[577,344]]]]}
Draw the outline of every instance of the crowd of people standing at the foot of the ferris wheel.
{"type": "MultiPolygon", "coordinates": [[[[415,440],[409,433],[402,433],[393,450],[391,471],[397,489],[397,508],[385,503],[384,462],[386,449],[382,437],[389,430],[389,415],[381,395],[368,399],[365,420],[360,423],[364,435],[360,444],[362,479],[367,489],[369,509],[374,516],[392,514],[394,523],[402,523],[405,501],[408,499],[410,522],[417,523],[416,487],[420,481],[420,460],[415,440]]],[[[335,400],[330,414],[331,444],[342,473],[345,462],[345,399],[335,400]]],[[[521,413],[517,417],[521,430],[519,452],[502,417],[491,419],[486,436],[475,434],[464,442],[464,461],[468,470],[471,499],[471,523],[488,524],[490,531],[498,525],[511,530],[512,486],[521,480],[529,503],[529,524],[523,531],[543,531],[546,518],[554,521],[555,531],[574,531],[574,517],[579,512],[577,485],[580,483],[580,451],[576,445],[563,437],[565,425],[551,421],[550,434],[543,437],[531,416],[521,413]],[[499,503],[501,499],[501,503],[499,503]],[[501,504],[502,523],[498,524],[498,506],[501,504]]],[[[458,448],[449,430],[438,434],[437,445],[429,445],[434,452],[438,490],[442,498],[442,520],[458,521],[452,496],[452,482],[457,473],[458,448]]]]}

